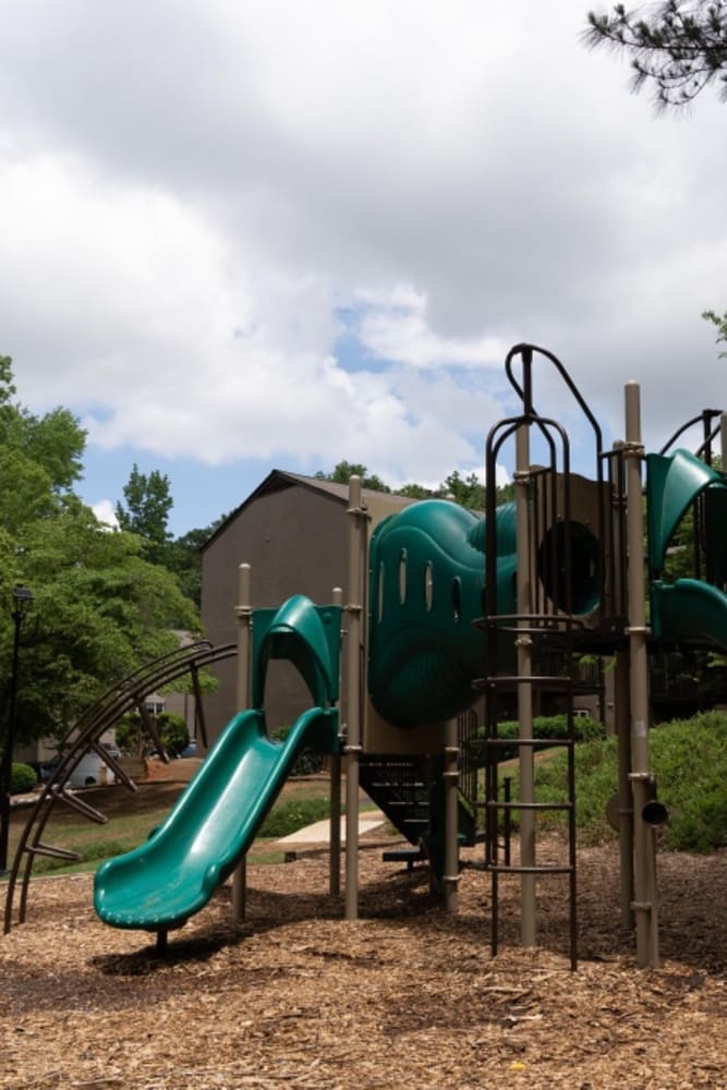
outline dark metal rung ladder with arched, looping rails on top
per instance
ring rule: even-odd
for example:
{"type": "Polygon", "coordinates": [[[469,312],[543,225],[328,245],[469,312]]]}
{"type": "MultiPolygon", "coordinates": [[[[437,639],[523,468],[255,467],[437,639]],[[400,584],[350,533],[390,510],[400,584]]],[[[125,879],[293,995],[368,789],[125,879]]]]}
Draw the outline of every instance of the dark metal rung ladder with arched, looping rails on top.
{"type": "MultiPolygon", "coordinates": [[[[578,960],[578,916],[577,916],[577,858],[575,858],[575,773],[574,773],[574,694],[579,688],[577,678],[575,645],[581,646],[579,616],[587,614],[590,607],[575,602],[574,571],[581,559],[578,555],[578,525],[571,520],[571,467],[570,440],[565,427],[555,420],[541,415],[533,402],[534,361],[552,365],[573,397],[585,417],[594,438],[596,462],[597,525],[595,526],[597,576],[594,574],[593,589],[597,590],[596,601],[604,601],[606,569],[609,560],[606,544],[610,531],[610,514],[607,510],[607,491],[603,484],[603,440],[601,427],[581,393],[571,380],[560,361],[545,349],[532,344],[516,346],[506,359],[506,374],[520,399],[522,411],[519,415],[501,421],[490,428],[486,443],[486,542],[485,542],[485,592],[484,616],[476,621],[486,632],[486,657],[484,677],[475,682],[485,694],[485,869],[492,880],[492,950],[497,953],[499,941],[499,880],[500,875],[520,875],[525,879],[541,879],[562,875],[568,880],[569,903],[569,948],[571,968],[578,960]],[[516,376],[513,365],[520,362],[521,372],[516,376]],[[531,464],[531,435],[535,434],[545,451],[546,465],[531,464]],[[517,467],[514,474],[518,504],[517,518],[517,605],[513,611],[502,609],[498,604],[498,556],[496,482],[497,459],[507,440],[514,440],[517,467]],[[521,544],[524,543],[522,549],[521,544]],[[601,549],[601,554],[598,554],[601,549]],[[521,568],[523,570],[521,570],[521,568]],[[521,588],[523,593],[521,594],[521,588]],[[526,603],[526,604],[525,604],[526,603]],[[524,605],[524,608],[523,608],[524,605]],[[516,646],[517,666],[514,670],[502,667],[508,652],[512,658],[516,646]],[[533,656],[537,656],[534,658],[533,656]],[[543,667],[543,661],[550,658],[554,668],[543,667]],[[540,661],[538,661],[540,659],[540,661]],[[535,785],[534,751],[546,744],[566,749],[567,790],[564,800],[545,802],[514,801],[500,794],[499,755],[504,744],[512,746],[512,740],[498,737],[498,717],[501,695],[516,691],[518,694],[519,718],[523,727],[516,746],[521,767],[526,763],[529,780],[535,785]],[[536,693],[559,693],[565,699],[568,717],[567,737],[560,739],[535,739],[532,737],[533,697],[536,693]],[[531,768],[533,770],[531,776],[531,768]],[[560,863],[535,861],[535,815],[547,811],[567,814],[568,837],[567,858],[560,863]],[[532,827],[528,831],[523,845],[528,844],[526,860],[512,861],[510,852],[510,831],[513,812],[532,814],[532,827]],[[505,831],[505,844],[500,843],[500,826],[505,831]],[[504,857],[501,855],[504,853],[504,857]]],[[[553,377],[550,372],[549,377],[553,377]]],[[[590,638],[590,635],[589,635],[590,638]]],[[[535,893],[528,885],[534,917],[535,893]]],[[[523,895],[523,923],[524,904],[523,895]]],[[[525,928],[523,927],[523,932],[525,928]]],[[[534,934],[534,920],[529,921],[528,931],[534,934]]],[[[524,937],[524,934],[523,934],[524,937]]],[[[530,940],[528,940],[530,945],[530,940]]]]}

